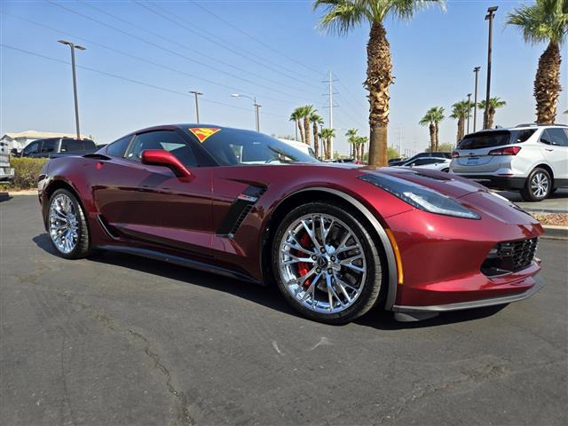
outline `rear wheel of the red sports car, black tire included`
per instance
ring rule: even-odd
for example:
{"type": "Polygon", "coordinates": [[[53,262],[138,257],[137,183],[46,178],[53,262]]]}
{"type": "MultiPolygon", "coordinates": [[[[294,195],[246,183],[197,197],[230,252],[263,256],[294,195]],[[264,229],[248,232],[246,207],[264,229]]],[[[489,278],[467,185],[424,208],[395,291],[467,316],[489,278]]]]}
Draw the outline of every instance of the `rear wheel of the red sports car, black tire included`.
{"type": "Polygon", "coordinates": [[[59,256],[66,259],[89,256],[89,226],[83,207],[74,193],[67,189],[58,189],[52,193],[47,215],[47,231],[59,256]]]}

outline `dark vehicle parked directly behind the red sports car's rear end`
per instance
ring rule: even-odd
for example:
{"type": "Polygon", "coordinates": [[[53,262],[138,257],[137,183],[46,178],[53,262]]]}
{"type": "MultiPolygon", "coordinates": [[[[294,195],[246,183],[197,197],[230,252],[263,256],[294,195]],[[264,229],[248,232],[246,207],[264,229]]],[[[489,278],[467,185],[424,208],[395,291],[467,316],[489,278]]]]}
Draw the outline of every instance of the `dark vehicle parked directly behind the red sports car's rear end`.
{"type": "Polygon", "coordinates": [[[53,158],[64,155],[94,153],[97,146],[91,139],[46,138],[30,142],[22,149],[21,157],[53,158]]]}

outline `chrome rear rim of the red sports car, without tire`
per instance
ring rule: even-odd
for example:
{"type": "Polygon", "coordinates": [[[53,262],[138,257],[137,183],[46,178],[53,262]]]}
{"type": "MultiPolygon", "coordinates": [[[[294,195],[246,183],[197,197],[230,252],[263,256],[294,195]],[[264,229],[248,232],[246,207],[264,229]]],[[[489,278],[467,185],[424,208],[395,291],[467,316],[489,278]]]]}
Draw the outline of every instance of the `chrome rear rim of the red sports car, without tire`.
{"type": "Polygon", "coordinates": [[[65,193],[51,200],[49,228],[51,241],[65,254],[71,253],[79,239],[79,224],[75,204],[65,193]]]}

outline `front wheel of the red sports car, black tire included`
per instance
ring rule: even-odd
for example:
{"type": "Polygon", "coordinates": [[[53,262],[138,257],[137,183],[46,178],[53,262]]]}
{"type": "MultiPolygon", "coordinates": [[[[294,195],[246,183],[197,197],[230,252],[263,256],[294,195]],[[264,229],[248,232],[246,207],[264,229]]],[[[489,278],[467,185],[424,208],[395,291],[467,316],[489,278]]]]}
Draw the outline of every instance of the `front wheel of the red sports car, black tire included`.
{"type": "Polygon", "coordinates": [[[380,245],[356,212],[312,202],[293,209],[280,223],[272,242],[272,272],[297,312],[327,324],[344,324],[379,300],[380,245]]]}

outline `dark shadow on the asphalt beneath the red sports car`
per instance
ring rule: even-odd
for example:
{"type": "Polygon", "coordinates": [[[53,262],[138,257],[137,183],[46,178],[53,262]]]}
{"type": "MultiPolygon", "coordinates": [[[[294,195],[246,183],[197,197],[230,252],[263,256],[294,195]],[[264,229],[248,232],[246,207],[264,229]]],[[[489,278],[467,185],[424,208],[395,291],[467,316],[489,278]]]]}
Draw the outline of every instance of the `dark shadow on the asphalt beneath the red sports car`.
{"type": "MultiPolygon", "coordinates": [[[[37,235],[33,238],[33,241],[36,243],[37,247],[42,248],[44,251],[53,256],[57,256],[56,250],[51,245],[51,241],[47,233],[37,235]]],[[[222,291],[233,296],[241,297],[256,304],[262,304],[274,311],[303,318],[288,305],[288,303],[280,295],[278,289],[273,285],[259,286],[247,281],[235,280],[209,272],[201,272],[185,268],[177,264],[167,264],[165,262],[146,257],[117,252],[96,252],[93,256],[90,256],[88,260],[101,264],[113,264],[122,268],[150,273],[170,280],[177,280],[191,285],[211,288],[216,291],[222,291]]],[[[360,326],[375,327],[385,331],[405,328],[438,327],[446,324],[489,317],[494,313],[501,311],[503,307],[504,305],[461,312],[446,312],[433,319],[425,319],[416,322],[398,322],[393,318],[392,312],[385,312],[382,309],[373,309],[370,312],[367,312],[367,314],[360,319],[356,319],[353,322],[360,326]]]]}

